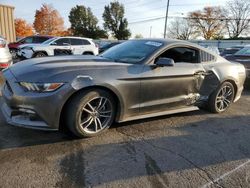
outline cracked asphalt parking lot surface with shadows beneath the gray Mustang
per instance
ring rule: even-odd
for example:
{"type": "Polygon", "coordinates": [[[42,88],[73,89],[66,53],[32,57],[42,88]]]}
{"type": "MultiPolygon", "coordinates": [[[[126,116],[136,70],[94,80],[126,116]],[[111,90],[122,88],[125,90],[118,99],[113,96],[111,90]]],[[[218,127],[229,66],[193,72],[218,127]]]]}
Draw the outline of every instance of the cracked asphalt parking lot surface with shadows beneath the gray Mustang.
{"type": "Polygon", "coordinates": [[[249,103],[248,89],[223,114],[115,124],[88,139],[13,127],[0,114],[0,187],[250,187],[249,103]]]}

